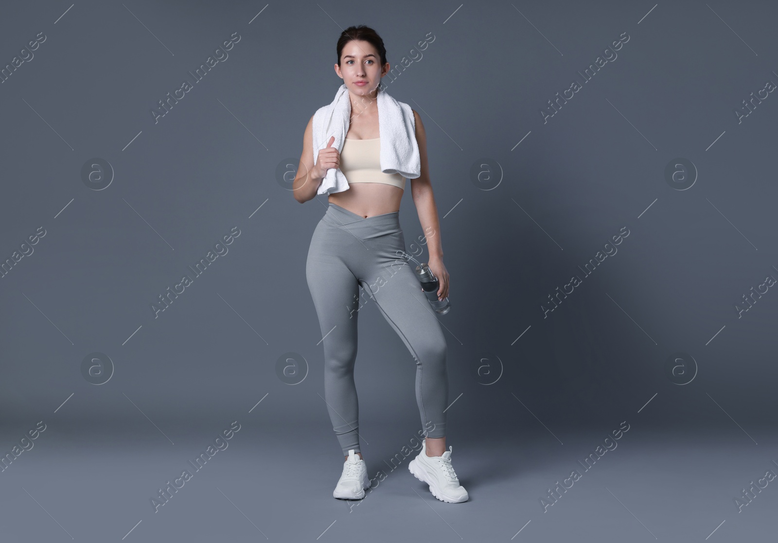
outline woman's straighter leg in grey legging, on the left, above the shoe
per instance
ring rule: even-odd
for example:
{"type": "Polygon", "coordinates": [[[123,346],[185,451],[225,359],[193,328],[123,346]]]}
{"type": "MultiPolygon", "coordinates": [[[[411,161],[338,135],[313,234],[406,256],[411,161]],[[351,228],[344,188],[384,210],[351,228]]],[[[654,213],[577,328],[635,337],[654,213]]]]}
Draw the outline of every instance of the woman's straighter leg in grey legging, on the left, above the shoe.
{"type": "Polygon", "coordinates": [[[359,453],[359,403],[354,384],[359,285],[342,260],[342,236],[338,229],[324,224],[317,227],[306,276],[324,338],[324,401],[343,455],[348,457],[349,449],[359,453]]]}

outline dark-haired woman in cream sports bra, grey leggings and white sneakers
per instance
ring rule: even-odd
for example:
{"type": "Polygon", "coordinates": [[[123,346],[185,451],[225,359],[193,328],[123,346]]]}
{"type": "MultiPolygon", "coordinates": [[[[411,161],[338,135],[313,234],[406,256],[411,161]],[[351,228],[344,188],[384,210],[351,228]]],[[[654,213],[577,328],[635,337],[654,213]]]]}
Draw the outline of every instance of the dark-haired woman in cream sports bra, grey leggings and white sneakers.
{"type": "MultiPolygon", "coordinates": [[[[337,52],[335,73],[348,89],[351,103],[342,151],[331,146],[334,136],[328,138],[314,163],[311,117],[293,182],[294,197],[303,203],[315,198],[330,168],[339,168],[349,181],[346,190],[328,194],[329,206],[314,230],[306,264],[307,282],[324,337],[324,400],[345,455],[333,496],[362,499],[370,487],[359,450],[359,406],[354,384],[361,285],[416,362],[416,400],[426,439],[408,469],[429,485],[437,499],[464,502],[468,493],[451,466],[452,447],[444,452],[446,340],[415,273],[398,257],[398,250],[405,250],[399,221],[405,178],[399,173],[383,173],[380,168],[377,93],[386,92],[378,87],[390,69],[384,41],[367,26],[351,26],[338,39],[337,52]]],[[[429,269],[440,280],[437,295],[443,300],[448,296],[449,276],[443,265],[440,223],[429,184],[424,126],[415,111],[413,117],[421,175],[411,180],[411,191],[419,222],[428,233],[429,269]]]]}

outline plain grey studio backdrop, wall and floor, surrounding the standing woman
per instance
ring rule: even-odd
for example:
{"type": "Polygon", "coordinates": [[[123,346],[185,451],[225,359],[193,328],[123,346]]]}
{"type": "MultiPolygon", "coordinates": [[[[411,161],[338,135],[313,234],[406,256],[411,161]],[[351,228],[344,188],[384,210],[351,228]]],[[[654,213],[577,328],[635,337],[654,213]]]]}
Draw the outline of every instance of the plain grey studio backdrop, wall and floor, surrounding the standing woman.
{"type": "MultiPolygon", "coordinates": [[[[778,277],[778,99],[769,93],[740,123],[734,114],[778,83],[774,4],[65,10],[2,7],[0,65],[37,33],[47,37],[0,84],[0,260],[46,230],[0,279],[0,453],[47,425],[0,473],[9,541],[66,539],[62,531],[81,541],[315,540],[323,531],[336,540],[377,526],[387,541],[407,537],[396,524],[430,540],[506,541],[533,519],[515,540],[774,534],[776,491],[742,513],[733,506],[741,487],[778,469],[778,294],[769,289],[741,317],[735,307],[778,277]],[[468,506],[430,499],[405,464],[384,486],[393,506],[377,506],[390,499],[378,492],[361,513],[331,498],[342,457],[305,280],[326,198],[298,205],[279,171],[289,159],[296,167],[308,119],[341,82],[339,33],[360,23],[380,33],[398,68],[387,92],[426,127],[450,273],[452,310],[440,317],[447,437],[468,506]],[[158,101],[236,32],[228,58],[155,123],[158,101]],[[606,53],[612,61],[544,123],[548,100],[583,82],[578,71],[622,33],[617,56],[606,53]],[[114,170],[101,191],[81,176],[95,157],[114,170]],[[679,157],[697,170],[687,190],[665,179],[679,157]],[[499,171],[496,187],[473,175],[482,163],[499,171]],[[150,304],[233,226],[229,252],[155,318],[150,304]],[[618,253],[544,318],[548,295],[583,277],[578,266],[623,226],[618,253]],[[81,373],[93,352],[114,364],[100,386],[81,373]],[[300,356],[301,382],[277,375],[288,352],[300,356]],[[688,384],[668,377],[677,352],[696,361],[688,384]],[[241,430],[217,455],[233,457],[213,459],[186,487],[199,488],[154,513],[149,496],[234,420],[241,430]],[[543,513],[545,489],[622,421],[622,453],[608,452],[619,460],[606,455],[601,475],[543,513]]],[[[409,252],[424,259],[408,194],[400,215],[409,252]]],[[[415,366],[377,308],[359,313],[360,433],[379,468],[421,428],[415,366]]]]}

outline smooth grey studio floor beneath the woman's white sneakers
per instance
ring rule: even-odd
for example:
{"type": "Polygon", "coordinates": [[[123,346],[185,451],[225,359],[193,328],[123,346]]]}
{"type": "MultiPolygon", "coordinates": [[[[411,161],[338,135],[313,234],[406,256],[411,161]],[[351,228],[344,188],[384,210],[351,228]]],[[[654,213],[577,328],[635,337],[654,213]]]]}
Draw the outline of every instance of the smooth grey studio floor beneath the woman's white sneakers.
{"type": "MultiPolygon", "coordinates": [[[[538,425],[493,436],[457,428],[448,443],[470,500],[450,504],[408,472],[412,430],[363,428],[373,490],[344,501],[332,497],[342,457],[331,429],[242,422],[228,447],[195,471],[187,460],[221,426],[229,423],[191,423],[175,436],[148,422],[50,424],[0,474],[2,541],[601,543],[775,541],[778,534],[778,481],[763,479],[778,473],[770,428],[746,434],[726,423],[694,432],[633,423],[588,471],[579,461],[607,431],[552,435],[538,425]],[[155,512],[152,496],[184,469],[191,478],[155,512]],[[541,498],[573,470],[580,478],[544,512],[541,498]],[[738,512],[734,498],[759,478],[766,487],[738,512]]],[[[3,429],[14,432],[23,433],[3,429]]]]}

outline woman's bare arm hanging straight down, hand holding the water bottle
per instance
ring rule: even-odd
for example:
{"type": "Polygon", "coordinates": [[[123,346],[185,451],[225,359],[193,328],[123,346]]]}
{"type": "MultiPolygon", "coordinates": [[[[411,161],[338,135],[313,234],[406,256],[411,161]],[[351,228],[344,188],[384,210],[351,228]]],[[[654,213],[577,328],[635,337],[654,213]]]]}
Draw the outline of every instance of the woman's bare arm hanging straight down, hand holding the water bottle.
{"type": "Polygon", "coordinates": [[[422,225],[426,238],[427,250],[429,250],[429,269],[440,281],[438,299],[443,300],[448,296],[449,277],[446,266],[443,265],[443,245],[440,240],[440,220],[438,220],[437,206],[433,186],[429,182],[429,165],[427,163],[427,138],[424,124],[419,114],[413,111],[416,124],[416,142],[419,144],[419,158],[421,159],[422,172],[419,177],[411,180],[411,194],[416,212],[419,214],[419,222],[422,225]]]}

